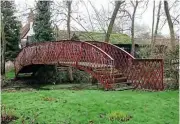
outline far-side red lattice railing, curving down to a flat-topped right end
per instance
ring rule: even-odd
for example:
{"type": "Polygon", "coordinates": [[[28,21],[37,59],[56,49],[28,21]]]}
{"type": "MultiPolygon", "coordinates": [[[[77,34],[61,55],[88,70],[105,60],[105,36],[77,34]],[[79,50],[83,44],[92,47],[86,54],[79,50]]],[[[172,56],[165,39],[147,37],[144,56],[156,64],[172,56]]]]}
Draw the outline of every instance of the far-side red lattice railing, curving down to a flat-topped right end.
{"type": "Polygon", "coordinates": [[[114,59],[116,69],[132,82],[135,88],[163,90],[163,60],[135,59],[125,50],[105,42],[87,41],[101,48],[114,59]]]}

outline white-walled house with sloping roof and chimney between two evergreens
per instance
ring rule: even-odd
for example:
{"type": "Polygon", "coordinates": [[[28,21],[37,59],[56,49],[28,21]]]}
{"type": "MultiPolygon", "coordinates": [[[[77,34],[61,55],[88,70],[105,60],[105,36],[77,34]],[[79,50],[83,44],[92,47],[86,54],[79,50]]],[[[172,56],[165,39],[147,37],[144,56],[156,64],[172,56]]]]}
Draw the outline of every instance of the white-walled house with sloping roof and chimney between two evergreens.
{"type": "Polygon", "coordinates": [[[25,47],[28,43],[32,42],[33,40],[33,22],[34,22],[34,13],[31,10],[29,15],[28,15],[28,20],[27,23],[21,28],[20,31],[20,44],[19,48],[22,49],[25,47]]]}

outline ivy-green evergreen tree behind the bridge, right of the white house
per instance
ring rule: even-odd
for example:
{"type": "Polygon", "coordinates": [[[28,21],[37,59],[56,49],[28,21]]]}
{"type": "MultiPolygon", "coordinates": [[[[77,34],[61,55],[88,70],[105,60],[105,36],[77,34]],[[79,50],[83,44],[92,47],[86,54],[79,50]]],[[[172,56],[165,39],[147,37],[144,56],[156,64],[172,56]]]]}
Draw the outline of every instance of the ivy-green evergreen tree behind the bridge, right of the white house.
{"type": "Polygon", "coordinates": [[[37,42],[54,40],[51,27],[51,1],[38,1],[34,21],[35,40],[37,42]]]}

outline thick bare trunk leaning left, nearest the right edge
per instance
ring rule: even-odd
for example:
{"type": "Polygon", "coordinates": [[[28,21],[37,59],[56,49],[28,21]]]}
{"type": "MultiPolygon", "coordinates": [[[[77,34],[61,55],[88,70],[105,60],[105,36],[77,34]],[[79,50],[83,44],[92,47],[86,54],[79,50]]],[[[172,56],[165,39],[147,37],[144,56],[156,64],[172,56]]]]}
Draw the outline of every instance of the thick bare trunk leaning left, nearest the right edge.
{"type": "Polygon", "coordinates": [[[164,1],[164,11],[166,13],[168,25],[169,25],[169,31],[170,31],[170,36],[171,36],[171,50],[175,48],[175,34],[174,34],[174,28],[173,28],[173,23],[171,20],[171,16],[169,13],[169,7],[168,7],[168,2],[164,1]]]}

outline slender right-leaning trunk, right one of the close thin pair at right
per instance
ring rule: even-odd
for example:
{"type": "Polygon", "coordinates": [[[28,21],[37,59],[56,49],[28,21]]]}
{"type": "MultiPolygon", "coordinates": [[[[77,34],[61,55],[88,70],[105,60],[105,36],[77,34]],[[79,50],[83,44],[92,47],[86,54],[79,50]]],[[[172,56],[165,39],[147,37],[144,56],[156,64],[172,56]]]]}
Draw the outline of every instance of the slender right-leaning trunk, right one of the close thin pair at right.
{"type": "Polygon", "coordinates": [[[157,36],[157,33],[158,33],[159,20],[160,20],[160,11],[161,11],[161,1],[159,1],[156,28],[155,28],[155,31],[154,31],[153,42],[151,43],[151,46],[152,46],[151,51],[152,51],[152,52],[154,51],[154,46],[155,46],[155,43],[156,43],[156,36],[157,36]]]}

